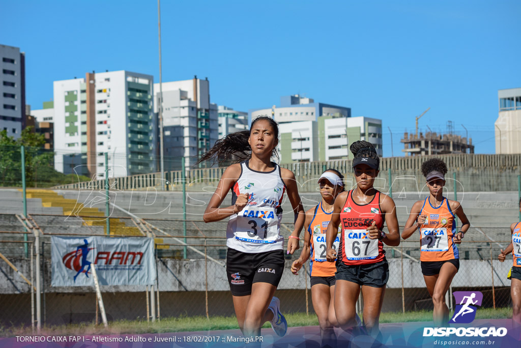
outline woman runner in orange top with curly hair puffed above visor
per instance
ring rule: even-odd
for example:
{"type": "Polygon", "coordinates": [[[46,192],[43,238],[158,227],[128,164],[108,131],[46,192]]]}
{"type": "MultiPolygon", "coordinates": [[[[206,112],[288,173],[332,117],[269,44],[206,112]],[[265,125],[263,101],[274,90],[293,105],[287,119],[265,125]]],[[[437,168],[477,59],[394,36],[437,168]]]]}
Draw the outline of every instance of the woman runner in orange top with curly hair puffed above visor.
{"type": "Polygon", "coordinates": [[[441,326],[449,321],[449,307],[445,304],[445,293],[449,290],[452,278],[460,268],[460,244],[470,227],[460,202],[443,197],[447,166],[437,158],[425,161],[421,173],[427,179],[429,196],[414,203],[402,232],[407,239],[420,231],[421,273],[432,297],[435,325],[441,326]],[[456,233],[456,216],[462,222],[460,232],[456,233]]]}

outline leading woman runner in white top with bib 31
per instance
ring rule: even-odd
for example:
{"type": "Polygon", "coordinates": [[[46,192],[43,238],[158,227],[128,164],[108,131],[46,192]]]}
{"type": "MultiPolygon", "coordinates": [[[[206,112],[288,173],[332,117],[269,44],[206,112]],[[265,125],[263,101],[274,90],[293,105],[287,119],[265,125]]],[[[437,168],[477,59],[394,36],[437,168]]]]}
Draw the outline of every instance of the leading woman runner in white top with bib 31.
{"type": "Polygon", "coordinates": [[[284,269],[284,238],[280,235],[280,204],[284,191],[288,191],[295,212],[295,227],[288,239],[287,254],[299,248],[305,213],[295,175],[270,161],[278,135],[275,121],[266,116],[258,117],[249,131],[218,140],[200,160],[230,160],[232,155],[245,159],[230,165],[222,174],[203,218],[205,222],[230,218],[226,230],[226,272],[235,315],[246,337],[260,335],[266,321],[270,321],[279,336],[288,329],[280,313],[279,299],[273,296],[284,269]],[[232,205],[219,208],[231,188],[232,205]]]}

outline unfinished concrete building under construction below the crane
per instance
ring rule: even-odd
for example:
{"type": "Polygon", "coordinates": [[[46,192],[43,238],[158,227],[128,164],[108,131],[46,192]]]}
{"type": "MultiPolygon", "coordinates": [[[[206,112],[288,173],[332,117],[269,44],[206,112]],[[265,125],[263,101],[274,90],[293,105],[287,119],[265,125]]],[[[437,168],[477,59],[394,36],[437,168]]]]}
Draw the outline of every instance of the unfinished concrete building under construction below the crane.
{"type": "Polygon", "coordinates": [[[472,138],[462,138],[454,134],[440,134],[427,132],[424,136],[420,132],[416,134],[403,134],[403,142],[406,156],[425,155],[425,154],[446,154],[446,153],[474,153],[472,138]],[[469,149],[469,151],[467,151],[469,149]]]}

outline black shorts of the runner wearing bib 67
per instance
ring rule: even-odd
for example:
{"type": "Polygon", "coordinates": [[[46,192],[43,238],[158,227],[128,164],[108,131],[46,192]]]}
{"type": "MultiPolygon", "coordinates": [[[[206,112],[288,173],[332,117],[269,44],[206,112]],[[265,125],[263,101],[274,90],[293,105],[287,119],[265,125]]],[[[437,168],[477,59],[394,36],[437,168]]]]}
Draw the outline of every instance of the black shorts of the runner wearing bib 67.
{"type": "Polygon", "coordinates": [[[372,287],[384,287],[389,280],[389,263],[387,259],[367,265],[345,265],[337,260],[337,280],[346,280],[372,287]]]}

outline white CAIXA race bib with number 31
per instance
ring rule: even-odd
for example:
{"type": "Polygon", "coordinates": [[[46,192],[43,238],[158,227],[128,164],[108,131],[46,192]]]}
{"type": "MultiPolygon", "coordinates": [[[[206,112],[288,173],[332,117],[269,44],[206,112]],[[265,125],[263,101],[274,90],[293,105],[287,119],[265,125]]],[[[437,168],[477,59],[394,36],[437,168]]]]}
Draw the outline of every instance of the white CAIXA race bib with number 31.
{"type": "Polygon", "coordinates": [[[237,216],[235,238],[253,243],[274,243],[279,235],[274,208],[246,207],[237,216]]]}

